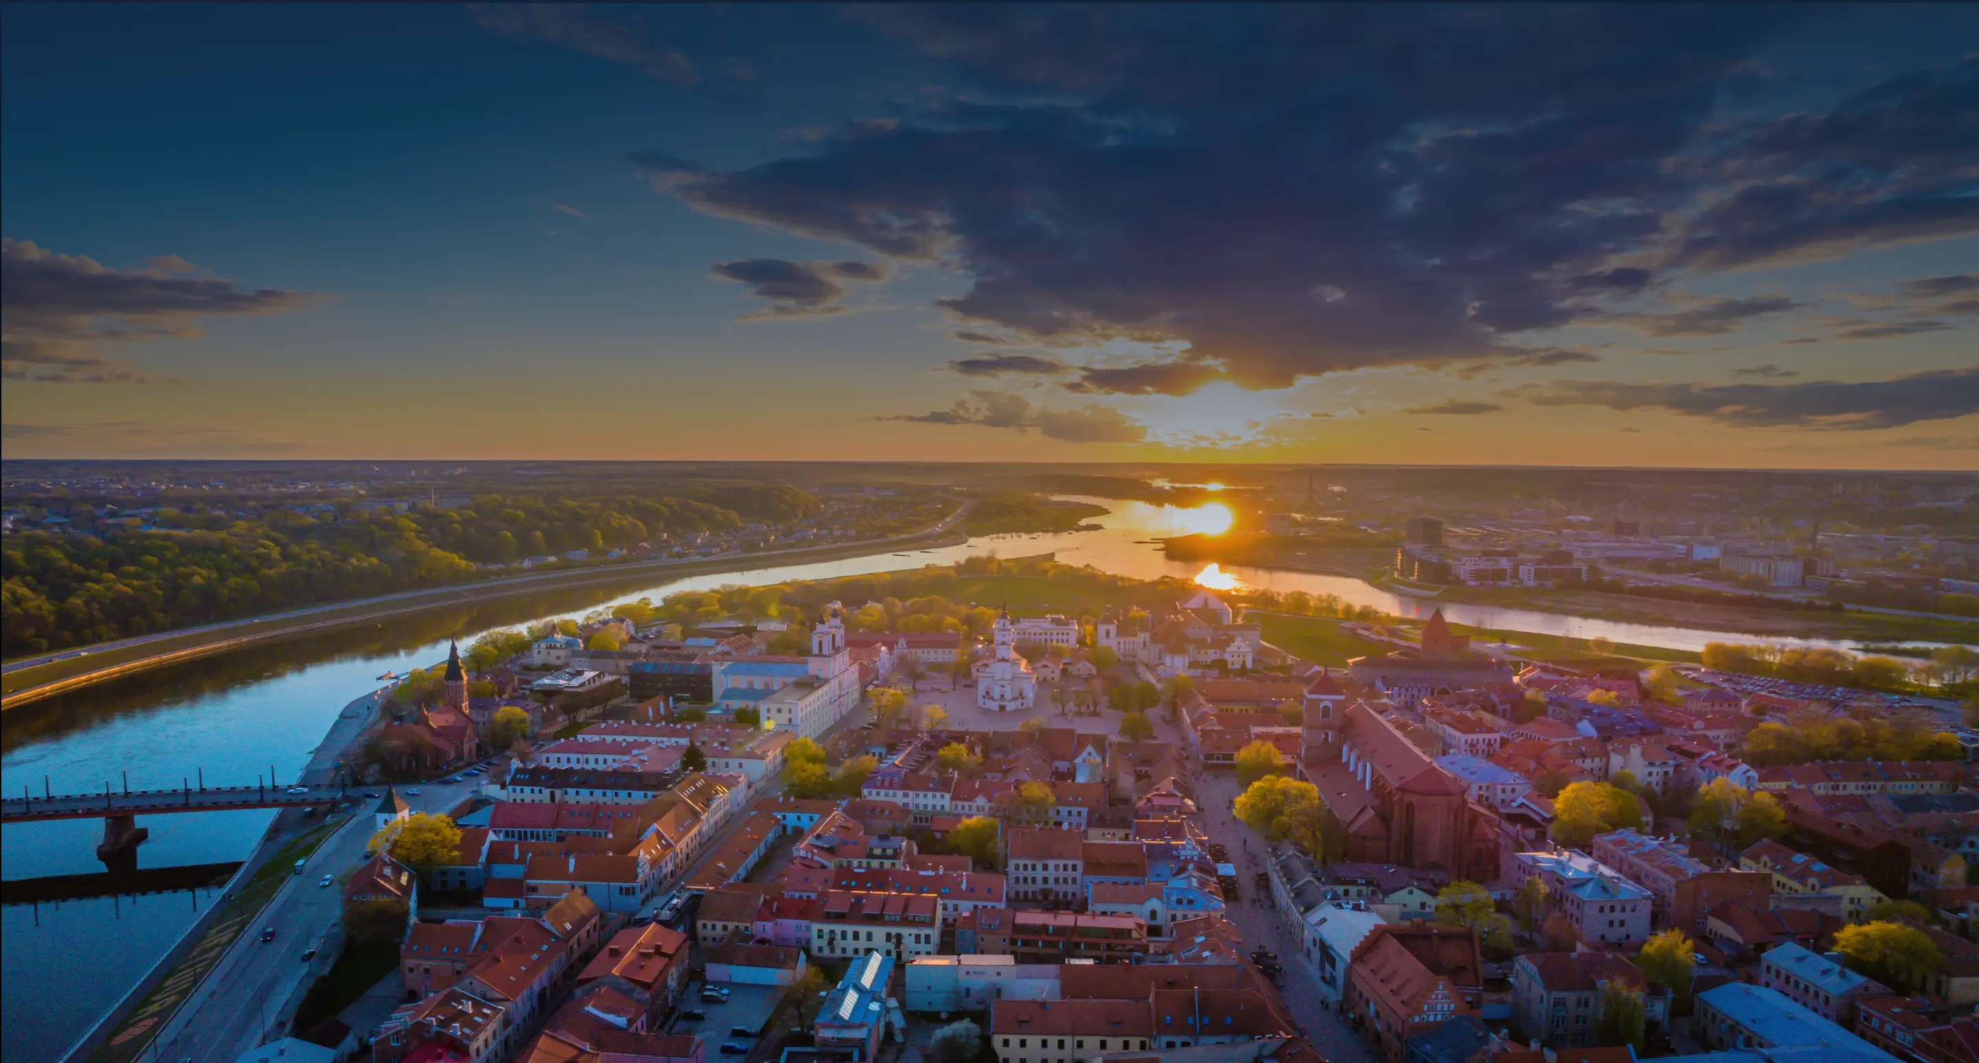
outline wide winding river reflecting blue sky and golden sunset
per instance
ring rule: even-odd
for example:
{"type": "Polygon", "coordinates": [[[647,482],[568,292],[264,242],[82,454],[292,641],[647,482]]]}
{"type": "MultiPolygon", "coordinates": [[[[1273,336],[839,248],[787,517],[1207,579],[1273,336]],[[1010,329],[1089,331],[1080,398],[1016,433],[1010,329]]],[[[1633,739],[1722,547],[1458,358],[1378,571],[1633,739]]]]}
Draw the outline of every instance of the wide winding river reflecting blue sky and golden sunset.
{"type": "MultiPolygon", "coordinates": [[[[546,593],[528,601],[439,611],[394,620],[376,630],[325,636],[188,662],[123,682],[81,690],[12,709],[0,731],[0,784],[8,792],[77,792],[123,784],[178,786],[204,771],[208,782],[253,782],[273,771],[295,778],[338,711],[376,690],[384,672],[435,664],[447,636],[461,642],[485,630],[546,616],[580,616],[600,605],[730,583],[831,579],[962,557],[1055,553],[1059,561],[1154,579],[1197,577],[1201,563],[1170,561],[1156,535],[1221,532],[1229,512],[1150,506],[1092,498],[1110,508],[1098,532],[1055,535],[993,535],[910,553],[879,553],[843,561],[734,569],[627,589],[625,593],[546,593]]],[[[1360,579],[1225,567],[1205,583],[1338,595],[1401,616],[1421,616],[1435,603],[1393,595],[1360,579]],[[1219,579],[1221,577],[1221,579],[1219,579]]],[[[1461,624],[1528,630],[1613,642],[1698,650],[1712,640],[1751,640],[1732,632],[1623,624],[1555,613],[1443,605],[1461,624]]],[[[1773,638],[1773,642],[1781,642],[1773,638]]],[[[208,812],[152,816],[150,840],[139,850],[144,867],[243,859],[267,830],[269,812],[208,812]]],[[[0,830],[0,865],[8,879],[101,871],[95,844],[103,824],[69,820],[0,830]]],[[[141,899],[91,899],[0,909],[0,1057],[51,1059],[117,1000],[204,907],[204,895],[168,893],[141,899]]]]}

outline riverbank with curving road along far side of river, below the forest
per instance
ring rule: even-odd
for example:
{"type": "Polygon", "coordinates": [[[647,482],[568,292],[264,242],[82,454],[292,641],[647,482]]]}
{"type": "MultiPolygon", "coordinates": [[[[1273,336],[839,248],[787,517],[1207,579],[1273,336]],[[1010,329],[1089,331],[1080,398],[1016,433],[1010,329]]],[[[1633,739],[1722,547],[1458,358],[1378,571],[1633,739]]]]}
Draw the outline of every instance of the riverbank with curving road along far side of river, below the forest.
{"type": "Polygon", "coordinates": [[[67,694],[71,690],[81,690],[85,686],[146,672],[166,664],[198,660],[247,646],[299,638],[305,634],[325,634],[360,624],[376,624],[388,618],[410,616],[431,609],[493,603],[511,597],[540,595],[544,591],[649,583],[655,577],[693,577],[708,571],[732,569],[738,561],[750,563],[752,567],[758,561],[782,565],[861,557],[885,553],[904,545],[952,545],[952,539],[960,539],[956,526],[966,512],[968,506],[956,510],[934,528],[912,535],[896,535],[893,539],[871,539],[829,547],[776,549],[708,559],[639,561],[631,565],[505,577],[485,583],[437,587],[433,591],[386,595],[358,603],[313,607],[275,616],[210,624],[184,632],[105,642],[87,650],[65,652],[55,660],[12,666],[4,678],[0,678],[0,709],[14,709],[44,697],[53,697],[57,694],[67,694]]]}

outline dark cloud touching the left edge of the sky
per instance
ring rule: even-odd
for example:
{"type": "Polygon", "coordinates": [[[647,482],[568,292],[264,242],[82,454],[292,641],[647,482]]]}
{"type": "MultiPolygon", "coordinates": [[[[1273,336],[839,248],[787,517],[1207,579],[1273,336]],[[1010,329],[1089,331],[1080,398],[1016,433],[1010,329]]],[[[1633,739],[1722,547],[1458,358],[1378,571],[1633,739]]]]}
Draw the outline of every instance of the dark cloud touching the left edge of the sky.
{"type": "Polygon", "coordinates": [[[323,302],[311,292],[241,290],[178,255],[115,269],[0,239],[0,377],[51,383],[178,383],[107,358],[105,344],[202,336],[200,318],[265,316],[323,302]]]}

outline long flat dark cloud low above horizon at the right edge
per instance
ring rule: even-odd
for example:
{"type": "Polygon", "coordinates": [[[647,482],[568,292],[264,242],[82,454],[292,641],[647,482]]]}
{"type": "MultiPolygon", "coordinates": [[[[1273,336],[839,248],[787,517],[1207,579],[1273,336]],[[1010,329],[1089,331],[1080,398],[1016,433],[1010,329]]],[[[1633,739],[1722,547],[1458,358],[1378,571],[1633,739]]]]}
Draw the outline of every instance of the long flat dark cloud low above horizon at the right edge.
{"type": "Polygon", "coordinates": [[[1872,381],[1615,383],[1559,381],[1508,391],[1536,405],[1668,409],[1736,427],[1894,429],[1979,413],[1979,369],[1935,369],[1872,381]]]}

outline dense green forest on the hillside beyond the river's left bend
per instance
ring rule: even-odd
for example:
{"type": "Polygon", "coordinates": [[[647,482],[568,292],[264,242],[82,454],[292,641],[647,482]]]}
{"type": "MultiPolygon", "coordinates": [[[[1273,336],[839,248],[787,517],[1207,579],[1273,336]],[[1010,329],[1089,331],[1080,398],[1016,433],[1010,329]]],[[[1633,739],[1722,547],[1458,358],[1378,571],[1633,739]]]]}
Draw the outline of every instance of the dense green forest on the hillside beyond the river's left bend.
{"type": "MultiPolygon", "coordinates": [[[[714,484],[701,498],[475,496],[441,510],[162,508],[152,530],[28,532],[0,547],[4,654],[471,579],[477,563],[570,549],[637,549],[661,535],[740,530],[821,512],[784,484],[714,484]]],[[[77,514],[77,510],[69,510],[77,514]]],[[[87,514],[77,514],[87,516],[87,514]]]]}

